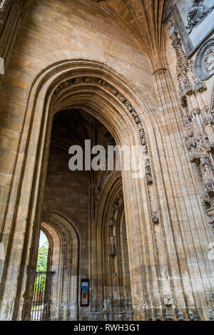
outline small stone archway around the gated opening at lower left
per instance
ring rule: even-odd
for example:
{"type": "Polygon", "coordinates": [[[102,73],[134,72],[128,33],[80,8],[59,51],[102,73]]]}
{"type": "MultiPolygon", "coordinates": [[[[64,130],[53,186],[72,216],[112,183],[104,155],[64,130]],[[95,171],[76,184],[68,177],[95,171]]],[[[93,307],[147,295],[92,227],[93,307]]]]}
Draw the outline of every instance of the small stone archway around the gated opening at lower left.
{"type": "Polygon", "coordinates": [[[49,271],[55,272],[51,320],[78,320],[78,234],[70,222],[56,213],[42,214],[41,230],[51,239],[49,271]]]}

